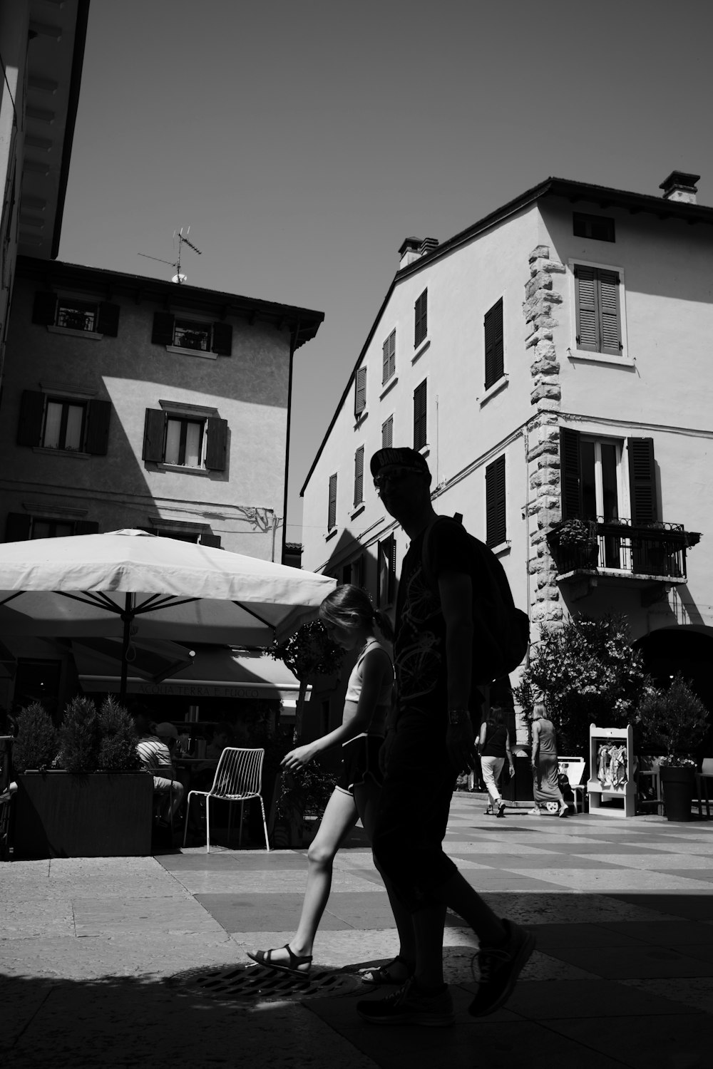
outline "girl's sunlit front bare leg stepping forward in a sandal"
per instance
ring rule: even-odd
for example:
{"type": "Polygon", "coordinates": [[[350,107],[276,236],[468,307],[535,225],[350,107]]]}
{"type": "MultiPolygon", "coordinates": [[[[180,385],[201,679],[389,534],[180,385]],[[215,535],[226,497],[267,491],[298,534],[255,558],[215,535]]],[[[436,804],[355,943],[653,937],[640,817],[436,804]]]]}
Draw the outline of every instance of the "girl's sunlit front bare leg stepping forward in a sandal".
{"type": "MultiPolygon", "coordinates": [[[[293,954],[310,955],[314,936],[331,889],[331,869],[337,851],[357,820],[353,797],[336,790],[324,810],[322,823],[307,852],[307,890],[297,931],[290,940],[293,954]]],[[[273,950],[273,961],[288,964],[290,956],[283,948],[273,950]]]]}

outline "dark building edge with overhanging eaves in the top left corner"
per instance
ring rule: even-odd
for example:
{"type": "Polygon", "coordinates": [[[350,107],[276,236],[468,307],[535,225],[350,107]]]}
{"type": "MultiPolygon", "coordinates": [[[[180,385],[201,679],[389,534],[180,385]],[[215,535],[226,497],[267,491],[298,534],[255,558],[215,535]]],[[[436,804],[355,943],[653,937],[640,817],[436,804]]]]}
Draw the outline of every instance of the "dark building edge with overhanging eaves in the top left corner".
{"type": "Polygon", "coordinates": [[[89,0],[0,4],[0,390],[18,252],[58,254],[89,0]]]}

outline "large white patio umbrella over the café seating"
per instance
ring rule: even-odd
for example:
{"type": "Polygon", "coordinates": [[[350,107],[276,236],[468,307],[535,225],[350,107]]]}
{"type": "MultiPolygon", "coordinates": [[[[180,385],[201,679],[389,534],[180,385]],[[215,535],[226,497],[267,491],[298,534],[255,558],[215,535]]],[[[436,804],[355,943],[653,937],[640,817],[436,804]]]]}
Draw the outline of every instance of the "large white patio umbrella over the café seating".
{"type": "Polygon", "coordinates": [[[0,544],[0,635],[267,646],[335,579],[139,530],[0,544]]]}

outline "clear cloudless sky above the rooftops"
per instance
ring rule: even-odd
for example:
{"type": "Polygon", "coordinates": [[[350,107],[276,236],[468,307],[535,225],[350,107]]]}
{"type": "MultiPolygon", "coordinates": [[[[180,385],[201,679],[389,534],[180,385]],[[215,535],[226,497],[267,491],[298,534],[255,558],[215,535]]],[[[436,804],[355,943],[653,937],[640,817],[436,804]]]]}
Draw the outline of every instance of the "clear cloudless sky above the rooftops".
{"type": "MultiPolygon", "coordinates": [[[[324,311],[299,489],[398,268],[548,175],[713,204],[710,0],[92,0],[60,259],[324,311]],[[169,272],[170,268],[166,268],[169,272]]],[[[261,502],[244,502],[260,505],[261,502]]]]}

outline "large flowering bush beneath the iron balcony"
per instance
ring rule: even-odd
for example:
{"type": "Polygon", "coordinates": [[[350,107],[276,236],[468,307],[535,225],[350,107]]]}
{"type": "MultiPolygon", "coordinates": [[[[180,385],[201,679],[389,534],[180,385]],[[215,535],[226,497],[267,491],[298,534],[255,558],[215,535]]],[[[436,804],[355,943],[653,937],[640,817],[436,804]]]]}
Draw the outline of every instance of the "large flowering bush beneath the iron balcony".
{"type": "Polygon", "coordinates": [[[623,616],[580,616],[559,628],[540,628],[540,641],[531,647],[513,693],[526,713],[541,694],[557,728],[559,752],[586,754],[589,725],[624,727],[650,682],[623,616]]]}

